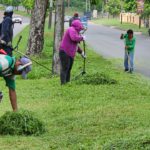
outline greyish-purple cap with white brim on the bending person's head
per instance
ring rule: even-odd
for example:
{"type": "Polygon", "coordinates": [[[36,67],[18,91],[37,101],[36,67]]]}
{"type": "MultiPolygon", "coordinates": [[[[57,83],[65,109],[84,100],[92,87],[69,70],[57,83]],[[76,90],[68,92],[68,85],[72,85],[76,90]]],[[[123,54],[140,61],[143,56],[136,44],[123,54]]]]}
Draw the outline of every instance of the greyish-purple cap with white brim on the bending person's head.
{"type": "Polygon", "coordinates": [[[20,58],[20,62],[22,64],[22,78],[26,79],[27,78],[27,74],[31,71],[32,69],[32,61],[27,58],[27,57],[22,57],[20,58]]]}

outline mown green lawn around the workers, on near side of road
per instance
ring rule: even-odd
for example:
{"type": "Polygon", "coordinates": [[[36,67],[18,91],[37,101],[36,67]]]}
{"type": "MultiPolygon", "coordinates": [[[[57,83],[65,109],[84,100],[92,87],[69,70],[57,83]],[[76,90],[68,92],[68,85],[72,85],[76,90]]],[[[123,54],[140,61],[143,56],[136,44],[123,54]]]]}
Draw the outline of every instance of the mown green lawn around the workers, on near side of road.
{"type": "MultiPolygon", "coordinates": [[[[24,51],[28,27],[21,34],[24,38],[19,49],[24,51]]],[[[36,59],[47,67],[52,61],[52,35],[52,30],[46,29],[45,47],[36,59]]],[[[116,80],[116,84],[72,81],[61,86],[59,77],[50,78],[50,72],[35,63],[28,80],[17,77],[19,108],[36,113],[48,131],[38,137],[0,136],[0,149],[150,149],[150,81],[124,73],[91,49],[87,50],[86,62],[89,78],[103,74],[116,80]]],[[[77,55],[72,77],[81,71],[82,63],[77,55]]],[[[4,92],[2,116],[11,107],[3,80],[0,85],[4,92]]]]}

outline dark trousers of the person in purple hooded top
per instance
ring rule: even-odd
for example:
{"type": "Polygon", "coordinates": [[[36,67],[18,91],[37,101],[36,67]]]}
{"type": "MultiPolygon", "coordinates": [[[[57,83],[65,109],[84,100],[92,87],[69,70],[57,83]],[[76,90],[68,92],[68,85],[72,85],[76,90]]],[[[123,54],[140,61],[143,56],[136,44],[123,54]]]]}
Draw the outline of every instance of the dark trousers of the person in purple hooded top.
{"type": "Polygon", "coordinates": [[[65,84],[70,81],[71,69],[73,66],[74,59],[68,56],[64,51],[59,52],[60,57],[60,80],[61,84],[65,84]]]}

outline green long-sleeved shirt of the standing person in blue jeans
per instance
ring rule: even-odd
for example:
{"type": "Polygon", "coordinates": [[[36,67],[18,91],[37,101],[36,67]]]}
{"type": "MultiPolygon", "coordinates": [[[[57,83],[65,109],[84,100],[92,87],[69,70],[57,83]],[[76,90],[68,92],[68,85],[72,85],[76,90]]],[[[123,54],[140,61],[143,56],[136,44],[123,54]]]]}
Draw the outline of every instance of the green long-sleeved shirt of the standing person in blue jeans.
{"type": "Polygon", "coordinates": [[[135,43],[136,43],[136,38],[133,36],[133,38],[130,40],[128,38],[128,34],[124,35],[124,39],[125,39],[125,46],[128,46],[128,51],[134,51],[135,49],[135,43]]]}

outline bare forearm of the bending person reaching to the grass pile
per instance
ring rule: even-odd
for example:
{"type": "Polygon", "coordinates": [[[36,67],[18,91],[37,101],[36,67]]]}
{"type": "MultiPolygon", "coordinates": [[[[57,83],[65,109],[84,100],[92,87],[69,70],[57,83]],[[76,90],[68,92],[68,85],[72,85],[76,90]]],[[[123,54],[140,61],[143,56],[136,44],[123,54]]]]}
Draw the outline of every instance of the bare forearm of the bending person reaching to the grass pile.
{"type": "Polygon", "coordinates": [[[18,107],[17,107],[16,90],[9,88],[9,98],[10,98],[10,102],[11,102],[11,106],[12,106],[13,111],[17,111],[18,107]]]}

